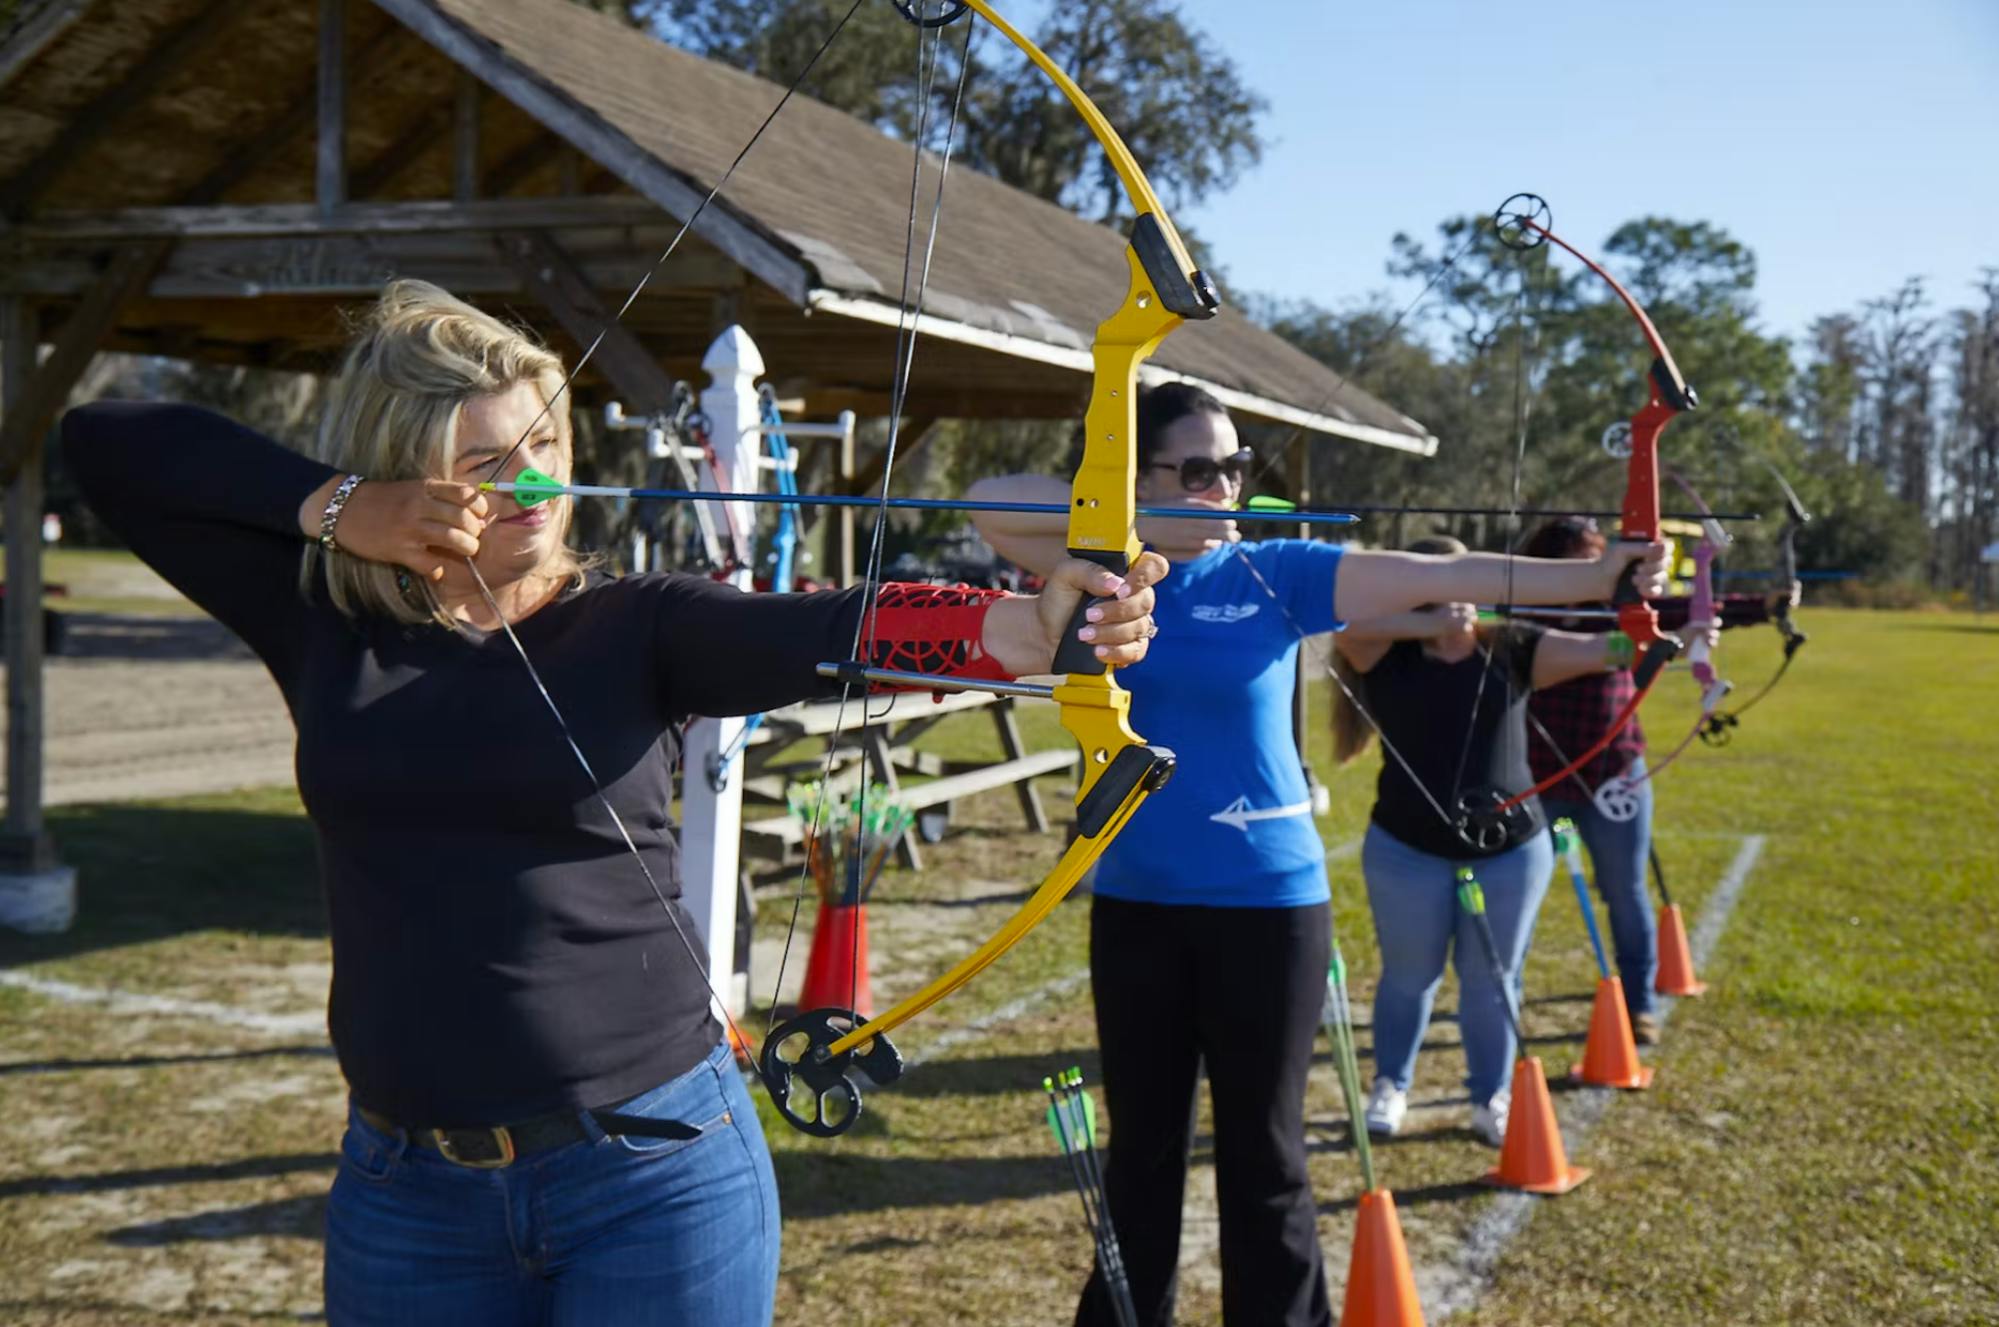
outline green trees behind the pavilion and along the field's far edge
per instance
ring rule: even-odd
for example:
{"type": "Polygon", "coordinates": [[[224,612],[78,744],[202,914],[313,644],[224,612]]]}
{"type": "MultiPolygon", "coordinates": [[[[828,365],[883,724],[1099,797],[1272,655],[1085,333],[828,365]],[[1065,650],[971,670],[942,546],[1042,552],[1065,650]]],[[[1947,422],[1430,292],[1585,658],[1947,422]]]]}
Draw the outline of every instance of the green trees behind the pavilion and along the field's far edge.
{"type": "MultiPolygon", "coordinates": [[[[698,54],[790,82],[846,0],[598,0],[698,54]]],[[[1095,220],[1121,194],[1101,152],[1007,42],[942,44],[928,84],[908,58],[902,18],[864,6],[864,32],[836,42],[804,84],[890,134],[912,136],[928,86],[932,116],[958,110],[960,160],[1095,220]],[[962,68],[970,66],[970,68],[962,68]]],[[[1185,208],[1227,190],[1259,160],[1267,104],[1171,0],[1055,6],[1033,32],[1105,110],[1161,194],[1185,208]]],[[[934,120],[936,122],[936,120],[934,120]]],[[[1191,236],[1199,248],[1199,236],[1191,236]]],[[[1771,520],[1739,530],[1739,566],[1769,566],[1781,504],[1771,468],[1817,520],[1801,564],[1857,584],[1965,592],[1999,540],[1999,268],[1939,308],[1917,278],[1859,310],[1813,322],[1801,344],[1757,328],[1755,254],[1711,222],[1637,218],[1601,244],[1579,238],[1651,312],[1701,408],[1665,436],[1667,462],[1715,508],[1771,520]]],[[[1209,258],[1227,290],[1227,264],[1209,258]]],[[[1387,274],[1427,284],[1415,308],[1381,298],[1335,306],[1307,298],[1229,298],[1355,386],[1421,420],[1435,460],[1379,448],[1309,450],[1317,502],[1429,506],[1619,506],[1623,464],[1603,430],[1645,394],[1647,350],[1593,276],[1545,248],[1497,244],[1483,216],[1437,224],[1429,242],[1397,236],[1387,274]]],[[[1071,430],[962,422],[918,458],[910,484],[968,482],[1061,464],[1071,430]]],[[[1247,430],[1263,452],[1261,488],[1281,492],[1283,430],[1247,430]]],[[[1673,506],[1673,504],[1669,504],[1673,506]]],[[[1681,504],[1683,506],[1683,504],[1681,504]]],[[[1447,528],[1485,548],[1505,522],[1377,522],[1395,542],[1447,528]]]]}

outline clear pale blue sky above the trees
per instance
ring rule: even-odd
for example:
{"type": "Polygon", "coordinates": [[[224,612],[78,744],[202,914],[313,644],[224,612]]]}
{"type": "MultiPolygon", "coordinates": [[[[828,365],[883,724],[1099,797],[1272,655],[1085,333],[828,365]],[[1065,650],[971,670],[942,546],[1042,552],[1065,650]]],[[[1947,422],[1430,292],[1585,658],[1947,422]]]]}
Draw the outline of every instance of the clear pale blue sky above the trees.
{"type": "Polygon", "coordinates": [[[1999,0],[1183,14],[1269,98],[1261,166],[1187,214],[1235,288],[1333,306],[1395,290],[1397,230],[1431,244],[1517,190],[1585,252],[1645,214],[1721,226],[1757,256],[1763,328],[1793,338],[1907,276],[1963,306],[1999,266],[1999,0]]]}

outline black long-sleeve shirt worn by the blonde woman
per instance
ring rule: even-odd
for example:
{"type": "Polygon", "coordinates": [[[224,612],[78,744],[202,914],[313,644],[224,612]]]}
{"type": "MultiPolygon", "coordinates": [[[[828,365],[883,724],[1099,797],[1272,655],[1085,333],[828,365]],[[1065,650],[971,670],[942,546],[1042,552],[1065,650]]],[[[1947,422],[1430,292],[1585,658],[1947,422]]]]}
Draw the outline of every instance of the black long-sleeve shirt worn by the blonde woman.
{"type": "MultiPolygon", "coordinates": [[[[716,1045],[702,973],[504,634],[356,622],[324,584],[300,592],[298,508],[334,470],[192,406],[86,406],[62,440],[96,514],[292,709],[356,1101],[504,1123],[622,1101],[716,1045]]],[[[594,576],[516,624],[676,909],[680,721],[824,693],[814,669],[848,656],[860,604],[594,576]]]]}

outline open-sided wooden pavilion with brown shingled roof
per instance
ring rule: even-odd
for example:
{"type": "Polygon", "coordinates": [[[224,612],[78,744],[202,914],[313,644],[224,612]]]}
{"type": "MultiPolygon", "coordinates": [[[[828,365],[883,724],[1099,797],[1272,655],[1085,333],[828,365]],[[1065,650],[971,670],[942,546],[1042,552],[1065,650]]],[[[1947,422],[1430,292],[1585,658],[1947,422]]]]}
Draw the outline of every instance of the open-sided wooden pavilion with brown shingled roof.
{"type": "MultiPolygon", "coordinates": [[[[660,410],[746,326],[806,416],[886,416],[910,146],[794,98],[632,308],[626,292],[782,88],[568,0],[0,4],[0,484],[8,797],[0,875],[42,831],[42,444],[100,350],[320,370],[392,276],[506,308],[578,390],[660,410]]],[[[1069,418],[1121,296],[1123,238],[954,168],[908,436],[1069,418]]],[[[1417,422],[1237,312],[1149,376],[1231,410],[1433,454],[1417,422]]]]}

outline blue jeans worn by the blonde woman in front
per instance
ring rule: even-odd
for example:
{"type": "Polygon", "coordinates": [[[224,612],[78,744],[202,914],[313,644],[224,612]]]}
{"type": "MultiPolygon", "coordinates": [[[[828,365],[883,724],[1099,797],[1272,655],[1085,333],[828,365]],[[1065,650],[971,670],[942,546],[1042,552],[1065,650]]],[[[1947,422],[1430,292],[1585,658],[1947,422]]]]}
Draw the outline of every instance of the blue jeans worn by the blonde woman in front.
{"type": "Polygon", "coordinates": [[[778,1183],[724,1043],[620,1107],[698,1139],[604,1137],[498,1171],[454,1165],[350,1107],[326,1207],[332,1327],[766,1327],[778,1183]]]}

